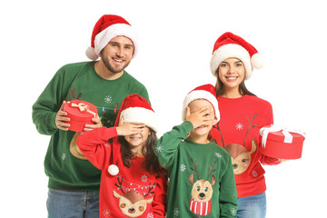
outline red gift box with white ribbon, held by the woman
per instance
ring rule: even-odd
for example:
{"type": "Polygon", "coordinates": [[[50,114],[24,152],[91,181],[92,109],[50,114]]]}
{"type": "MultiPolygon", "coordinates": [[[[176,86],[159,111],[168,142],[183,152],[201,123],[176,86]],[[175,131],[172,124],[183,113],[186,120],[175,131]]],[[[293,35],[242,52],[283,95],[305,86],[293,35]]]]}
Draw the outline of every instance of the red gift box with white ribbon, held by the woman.
{"type": "Polygon", "coordinates": [[[260,130],[262,145],[259,151],[267,156],[279,159],[299,159],[305,134],[299,130],[290,130],[275,125],[265,126],[260,130]]]}

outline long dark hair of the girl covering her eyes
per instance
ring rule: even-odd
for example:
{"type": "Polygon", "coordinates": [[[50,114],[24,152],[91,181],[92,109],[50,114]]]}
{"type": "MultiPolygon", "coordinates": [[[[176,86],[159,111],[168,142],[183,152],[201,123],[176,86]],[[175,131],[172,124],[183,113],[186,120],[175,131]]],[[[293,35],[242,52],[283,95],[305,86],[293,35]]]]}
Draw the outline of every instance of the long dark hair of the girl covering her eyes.
{"type": "MultiPolygon", "coordinates": [[[[159,160],[157,155],[154,153],[154,144],[158,140],[157,135],[154,130],[149,128],[150,134],[146,139],[144,146],[142,148],[142,153],[144,154],[144,168],[149,173],[162,174],[163,170],[160,168],[159,160]]],[[[119,136],[118,141],[121,144],[121,154],[123,158],[124,165],[127,167],[131,166],[132,160],[135,158],[134,153],[131,151],[130,144],[125,140],[124,136],[119,136]]]]}

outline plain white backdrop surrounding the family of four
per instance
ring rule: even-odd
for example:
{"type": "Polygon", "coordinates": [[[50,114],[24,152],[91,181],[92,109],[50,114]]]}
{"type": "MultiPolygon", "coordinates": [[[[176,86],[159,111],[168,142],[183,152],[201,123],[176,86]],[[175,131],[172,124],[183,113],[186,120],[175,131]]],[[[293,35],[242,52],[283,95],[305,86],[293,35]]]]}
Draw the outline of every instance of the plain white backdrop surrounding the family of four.
{"type": "Polygon", "coordinates": [[[140,35],[126,70],[147,87],[159,136],[181,123],[185,94],[214,84],[209,62],[220,35],[241,35],[265,54],[247,87],[271,102],[275,124],[307,133],[302,159],[265,167],[267,217],[327,217],[323,1],[21,0],[0,8],[1,217],[46,216],[49,136],[36,132],[32,104],[59,67],[88,60],[84,51],[104,14],[122,15],[140,35]]]}

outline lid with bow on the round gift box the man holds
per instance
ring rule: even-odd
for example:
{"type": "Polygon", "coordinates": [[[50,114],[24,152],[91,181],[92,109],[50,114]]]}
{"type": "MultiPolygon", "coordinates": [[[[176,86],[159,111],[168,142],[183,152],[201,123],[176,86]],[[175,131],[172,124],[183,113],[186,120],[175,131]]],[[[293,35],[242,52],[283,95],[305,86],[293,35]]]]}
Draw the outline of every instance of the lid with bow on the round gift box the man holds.
{"type": "Polygon", "coordinates": [[[64,111],[72,120],[89,121],[97,114],[97,108],[94,104],[81,101],[72,100],[64,104],[64,111]]]}

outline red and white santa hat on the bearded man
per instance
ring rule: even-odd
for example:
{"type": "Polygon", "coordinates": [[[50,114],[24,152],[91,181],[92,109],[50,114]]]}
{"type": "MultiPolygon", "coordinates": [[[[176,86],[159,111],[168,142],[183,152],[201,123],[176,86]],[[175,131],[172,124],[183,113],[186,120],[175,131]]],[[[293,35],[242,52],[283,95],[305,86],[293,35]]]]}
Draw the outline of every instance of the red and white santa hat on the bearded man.
{"type": "Polygon", "coordinates": [[[94,25],[91,38],[91,46],[86,49],[86,56],[91,60],[96,60],[100,56],[105,45],[115,36],[125,36],[132,40],[134,44],[133,57],[138,52],[138,36],[132,25],[119,15],[103,15],[94,25]]]}

